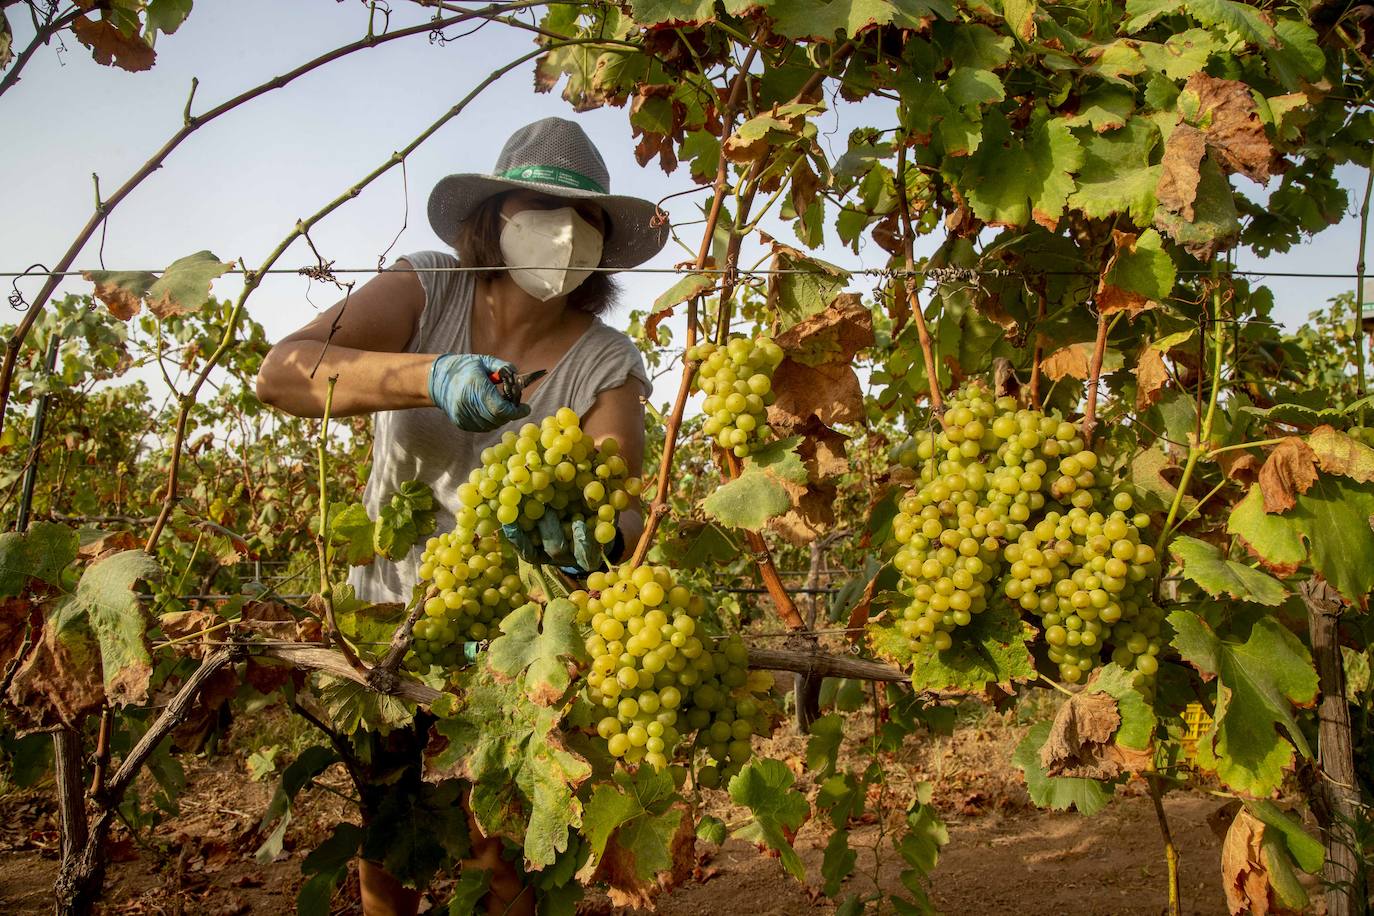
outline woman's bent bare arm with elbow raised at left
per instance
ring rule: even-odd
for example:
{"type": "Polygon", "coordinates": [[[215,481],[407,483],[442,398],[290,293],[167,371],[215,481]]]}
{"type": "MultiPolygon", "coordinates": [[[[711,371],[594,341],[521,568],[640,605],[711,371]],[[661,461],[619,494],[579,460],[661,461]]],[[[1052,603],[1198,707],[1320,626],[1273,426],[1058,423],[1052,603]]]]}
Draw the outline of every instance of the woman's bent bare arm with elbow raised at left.
{"type": "Polygon", "coordinates": [[[430,407],[434,354],[401,353],[425,310],[425,287],[409,262],[398,264],[404,268],[379,273],[282,338],[258,369],[258,398],[295,416],[323,416],[328,379],[338,376],[334,416],[430,407]],[[331,339],[335,321],[338,330],[331,339]]]}

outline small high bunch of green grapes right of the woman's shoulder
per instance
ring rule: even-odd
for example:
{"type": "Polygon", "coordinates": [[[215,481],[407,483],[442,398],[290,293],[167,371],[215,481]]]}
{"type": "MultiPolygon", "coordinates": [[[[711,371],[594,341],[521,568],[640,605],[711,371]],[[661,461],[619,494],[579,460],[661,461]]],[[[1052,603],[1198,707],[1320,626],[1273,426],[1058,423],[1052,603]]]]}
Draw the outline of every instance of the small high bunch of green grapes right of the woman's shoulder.
{"type": "Polygon", "coordinates": [[[720,448],[745,457],[771,434],[767,409],[782,347],[771,338],[732,336],[725,346],[699,343],[687,358],[701,363],[692,387],[706,396],[702,428],[720,448]]]}

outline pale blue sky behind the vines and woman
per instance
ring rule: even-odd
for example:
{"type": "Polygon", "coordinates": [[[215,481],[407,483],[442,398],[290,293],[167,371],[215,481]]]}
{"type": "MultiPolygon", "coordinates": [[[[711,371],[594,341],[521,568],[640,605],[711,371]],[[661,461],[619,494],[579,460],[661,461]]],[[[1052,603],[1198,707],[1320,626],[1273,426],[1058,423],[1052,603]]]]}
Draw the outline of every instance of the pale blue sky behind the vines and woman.
{"type": "MultiPolygon", "coordinates": [[[[393,25],[427,18],[409,4],[394,5],[393,25]]],[[[18,8],[11,7],[10,15],[15,43],[22,47],[30,34],[29,23],[18,8]]],[[[100,173],[107,194],[132,174],[180,124],[192,76],[199,78],[195,108],[203,111],[356,40],[365,22],[365,7],[354,0],[199,0],[181,29],[159,41],[157,66],[147,73],[98,66],[84,47],[70,40],[66,51],[40,51],[23,80],[0,96],[0,269],[22,271],[60,257],[91,214],[91,173],[100,173]]],[[[425,36],[403,38],[327,65],[221,117],[184,143],[115,210],[104,244],[106,265],[161,268],[199,249],[258,265],[298,217],[357,181],[492,69],[528,49],[528,33],[495,25],[445,47],[430,44],[425,36]]],[[[393,255],[441,247],[425,218],[425,202],[437,179],[449,172],[489,170],[514,128],[551,114],[576,117],[588,130],[610,166],[616,192],[658,199],[692,187],[686,169],[665,176],[657,163],[639,168],[625,110],[573,115],[556,95],[532,91],[532,65],[525,65],[506,76],[411,157],[409,225],[393,255]]],[[[882,114],[870,108],[852,124],[875,124],[882,114]]],[[[845,121],[842,115],[826,115],[823,141],[842,150],[851,126],[845,121]]],[[[1353,209],[1363,173],[1345,169],[1340,177],[1351,190],[1353,209]]],[[[669,210],[677,220],[691,218],[703,196],[677,198],[669,210]]],[[[404,207],[401,173],[396,169],[312,235],[337,265],[372,265],[400,229],[404,207]]],[[[691,229],[687,233],[691,238],[691,229]]],[[[790,239],[790,232],[782,238],[790,239]]],[[[1315,242],[1268,258],[1263,266],[1351,272],[1358,239],[1352,213],[1315,242]]],[[[77,266],[98,265],[98,242],[88,246],[77,266]]],[[[669,249],[653,264],[666,266],[686,257],[669,249]]],[[[877,266],[885,260],[871,243],[859,258],[840,246],[824,257],[848,266],[877,266]]],[[[279,266],[309,262],[309,250],[297,243],[279,266]]],[[[1260,262],[1242,253],[1238,266],[1256,269],[1260,262]]],[[[625,276],[625,302],[647,306],[671,283],[672,277],[664,275],[625,276]]],[[[249,310],[267,327],[269,338],[312,317],[306,286],[301,277],[273,276],[250,299],[249,310]]],[[[1353,284],[1275,279],[1271,286],[1278,317],[1297,325],[1309,310],[1353,284]]],[[[37,283],[26,282],[23,288],[32,294],[37,283]]],[[[69,280],[63,288],[85,291],[89,284],[69,280]]],[[[216,294],[229,297],[238,288],[236,277],[225,277],[216,284],[216,294]]],[[[323,308],[335,294],[313,284],[311,298],[323,308]]],[[[0,308],[7,306],[0,302],[0,308]]],[[[609,320],[622,324],[625,312],[622,308],[609,320]]],[[[658,394],[655,401],[666,391],[658,394]]]]}

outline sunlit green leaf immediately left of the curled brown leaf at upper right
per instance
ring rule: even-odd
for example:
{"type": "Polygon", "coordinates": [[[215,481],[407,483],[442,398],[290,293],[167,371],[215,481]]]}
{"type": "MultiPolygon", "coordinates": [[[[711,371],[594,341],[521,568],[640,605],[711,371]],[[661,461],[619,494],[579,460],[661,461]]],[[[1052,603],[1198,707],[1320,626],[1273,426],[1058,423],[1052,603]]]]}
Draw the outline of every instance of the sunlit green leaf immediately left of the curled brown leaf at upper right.
{"type": "Polygon", "coordinates": [[[1160,166],[1150,165],[1158,129],[1149,119],[1134,117],[1124,128],[1094,133],[1083,146],[1083,168],[1069,206],[1090,217],[1127,213],[1136,225],[1149,225],[1154,216],[1154,185],[1160,166]]]}

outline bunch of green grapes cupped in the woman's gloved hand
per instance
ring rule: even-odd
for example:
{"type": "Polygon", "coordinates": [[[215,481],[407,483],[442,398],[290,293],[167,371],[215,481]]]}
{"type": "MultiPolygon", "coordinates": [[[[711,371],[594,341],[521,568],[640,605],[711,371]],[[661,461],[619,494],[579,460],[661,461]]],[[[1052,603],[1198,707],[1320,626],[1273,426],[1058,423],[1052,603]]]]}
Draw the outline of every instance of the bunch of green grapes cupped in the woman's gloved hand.
{"type": "Polygon", "coordinates": [[[629,477],[616,439],[598,446],[583,433],[577,412],[565,407],[482,449],[481,467],[458,488],[456,530],[484,537],[500,525],[519,525],[540,547],[539,522],[555,512],[569,544],[577,520],[594,525],[599,544],[610,544],[616,519],[639,492],[640,481],[629,477]]]}

